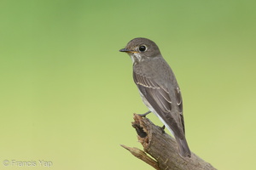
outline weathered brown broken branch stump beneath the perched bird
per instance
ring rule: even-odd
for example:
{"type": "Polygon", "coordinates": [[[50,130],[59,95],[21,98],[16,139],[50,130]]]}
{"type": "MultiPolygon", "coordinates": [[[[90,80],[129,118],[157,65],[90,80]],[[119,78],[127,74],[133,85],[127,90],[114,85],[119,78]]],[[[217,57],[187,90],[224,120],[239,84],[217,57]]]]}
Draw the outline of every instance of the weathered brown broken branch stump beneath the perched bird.
{"type": "Polygon", "coordinates": [[[191,158],[183,158],[177,153],[175,139],[164,132],[161,127],[155,126],[148,118],[134,114],[132,127],[137,131],[137,139],[143,144],[143,150],[154,157],[155,161],[143,150],[122,145],[134,156],[145,161],[157,170],[213,170],[216,169],[203,161],[194,153],[191,158]]]}

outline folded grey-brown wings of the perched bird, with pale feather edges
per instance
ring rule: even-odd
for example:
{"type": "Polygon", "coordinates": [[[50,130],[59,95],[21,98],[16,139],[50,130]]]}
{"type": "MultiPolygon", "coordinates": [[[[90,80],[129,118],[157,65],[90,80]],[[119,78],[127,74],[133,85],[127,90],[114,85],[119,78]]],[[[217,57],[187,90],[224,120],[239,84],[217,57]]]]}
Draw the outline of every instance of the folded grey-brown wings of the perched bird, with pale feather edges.
{"type": "MultiPolygon", "coordinates": [[[[172,117],[172,100],[170,98],[168,89],[160,86],[154,80],[144,77],[142,75],[133,72],[134,82],[137,84],[140,92],[144,95],[144,97],[148,100],[148,103],[154,108],[154,111],[158,113],[158,115],[172,128],[173,133],[177,135],[177,137],[183,139],[184,136],[184,123],[183,123],[183,114],[179,114],[180,120],[182,122],[182,128],[178,125],[174,117],[172,117]],[[182,130],[182,131],[181,131],[182,130]]],[[[180,108],[182,113],[182,98],[180,92],[177,91],[177,96],[179,96],[179,103],[177,105],[180,108]]]]}

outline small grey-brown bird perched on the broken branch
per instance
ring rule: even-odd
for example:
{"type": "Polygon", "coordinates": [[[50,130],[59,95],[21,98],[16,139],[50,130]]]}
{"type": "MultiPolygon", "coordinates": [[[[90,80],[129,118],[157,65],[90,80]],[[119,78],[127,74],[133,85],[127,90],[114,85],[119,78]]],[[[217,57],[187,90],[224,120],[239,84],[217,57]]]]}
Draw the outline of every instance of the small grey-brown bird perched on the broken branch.
{"type": "Polygon", "coordinates": [[[147,105],[160,118],[177,141],[180,156],[190,157],[191,152],[185,138],[183,120],[183,100],[177,80],[171,67],[160,54],[157,45],[138,37],[120,49],[131,56],[133,62],[133,80],[147,105]]]}

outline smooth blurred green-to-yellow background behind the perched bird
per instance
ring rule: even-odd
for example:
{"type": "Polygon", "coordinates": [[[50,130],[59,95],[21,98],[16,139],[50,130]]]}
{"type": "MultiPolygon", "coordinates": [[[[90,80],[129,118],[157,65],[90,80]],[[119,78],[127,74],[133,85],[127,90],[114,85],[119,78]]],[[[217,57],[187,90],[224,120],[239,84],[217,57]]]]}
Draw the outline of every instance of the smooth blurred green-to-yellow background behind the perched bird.
{"type": "Polygon", "coordinates": [[[119,53],[134,37],[156,42],[176,73],[191,150],[218,169],[255,168],[255,8],[254,0],[1,0],[0,169],[153,169],[119,146],[142,149],[131,122],[147,108],[131,59],[119,53]]]}

